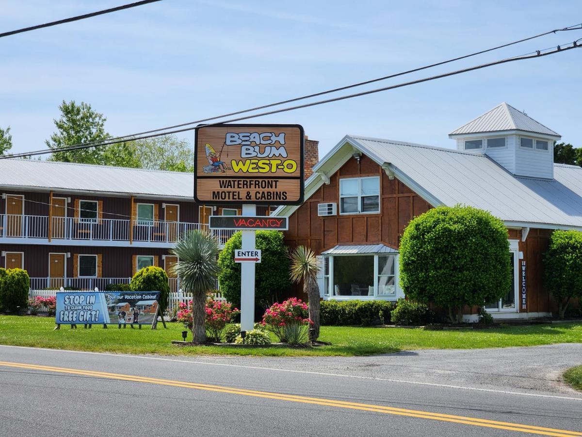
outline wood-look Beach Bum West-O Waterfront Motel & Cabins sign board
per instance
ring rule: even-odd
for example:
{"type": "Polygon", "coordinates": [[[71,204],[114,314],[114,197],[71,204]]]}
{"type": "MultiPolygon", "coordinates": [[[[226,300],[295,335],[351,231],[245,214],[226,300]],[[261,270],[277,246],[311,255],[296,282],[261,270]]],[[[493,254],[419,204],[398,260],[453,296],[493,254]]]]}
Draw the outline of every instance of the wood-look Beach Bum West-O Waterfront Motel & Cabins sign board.
{"type": "Polygon", "coordinates": [[[214,125],[196,130],[194,199],[211,205],[300,205],[303,128],[214,125]]]}

